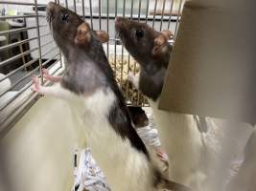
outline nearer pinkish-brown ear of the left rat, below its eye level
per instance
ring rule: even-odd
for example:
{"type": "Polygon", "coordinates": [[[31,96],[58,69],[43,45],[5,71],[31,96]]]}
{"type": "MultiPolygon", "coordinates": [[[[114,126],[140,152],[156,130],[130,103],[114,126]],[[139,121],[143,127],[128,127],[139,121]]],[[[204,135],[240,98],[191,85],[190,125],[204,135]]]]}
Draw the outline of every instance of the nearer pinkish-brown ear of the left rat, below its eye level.
{"type": "Polygon", "coordinates": [[[78,27],[77,35],[75,38],[75,43],[78,45],[85,45],[90,42],[91,35],[90,35],[90,27],[87,23],[81,23],[78,27]]]}

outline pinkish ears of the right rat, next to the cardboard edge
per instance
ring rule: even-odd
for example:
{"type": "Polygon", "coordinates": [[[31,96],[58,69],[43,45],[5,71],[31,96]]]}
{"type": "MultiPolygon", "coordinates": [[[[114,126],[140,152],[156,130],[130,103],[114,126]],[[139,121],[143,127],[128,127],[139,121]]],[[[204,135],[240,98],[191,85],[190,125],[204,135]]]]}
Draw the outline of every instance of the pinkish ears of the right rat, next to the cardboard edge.
{"type": "Polygon", "coordinates": [[[174,34],[171,31],[162,31],[155,39],[154,39],[154,46],[152,49],[152,55],[159,55],[164,54],[169,51],[168,47],[166,46],[169,39],[173,39],[174,34]]]}

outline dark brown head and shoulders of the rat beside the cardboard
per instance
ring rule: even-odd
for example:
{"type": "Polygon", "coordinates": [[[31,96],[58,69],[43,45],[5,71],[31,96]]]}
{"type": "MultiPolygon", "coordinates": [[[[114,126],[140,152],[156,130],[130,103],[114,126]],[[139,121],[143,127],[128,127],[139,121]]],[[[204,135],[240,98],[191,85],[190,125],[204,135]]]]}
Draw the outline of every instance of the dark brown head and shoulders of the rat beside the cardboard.
{"type": "Polygon", "coordinates": [[[156,32],[145,23],[122,17],[116,18],[115,27],[128,53],[141,66],[138,89],[155,101],[162,92],[173,50],[169,43],[172,32],[156,32]]]}

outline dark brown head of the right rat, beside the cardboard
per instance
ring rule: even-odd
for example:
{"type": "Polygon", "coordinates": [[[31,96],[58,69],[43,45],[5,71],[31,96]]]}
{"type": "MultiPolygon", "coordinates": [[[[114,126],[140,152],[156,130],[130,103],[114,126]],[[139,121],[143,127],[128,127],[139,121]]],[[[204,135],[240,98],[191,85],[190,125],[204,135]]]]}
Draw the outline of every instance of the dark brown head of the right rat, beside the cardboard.
{"type": "Polygon", "coordinates": [[[122,17],[116,18],[115,27],[123,45],[139,64],[154,62],[167,66],[172,52],[168,42],[172,32],[156,32],[144,23],[122,17]]]}

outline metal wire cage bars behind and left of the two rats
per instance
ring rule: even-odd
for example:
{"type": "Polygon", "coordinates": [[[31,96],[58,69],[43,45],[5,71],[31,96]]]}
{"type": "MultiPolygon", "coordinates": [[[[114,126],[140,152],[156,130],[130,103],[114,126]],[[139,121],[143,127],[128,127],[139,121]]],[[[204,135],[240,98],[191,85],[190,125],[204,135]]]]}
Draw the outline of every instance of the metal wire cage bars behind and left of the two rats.
{"type": "MultiPolygon", "coordinates": [[[[0,133],[21,117],[39,97],[31,91],[33,74],[61,74],[64,59],[46,22],[44,0],[0,1],[0,133]]],[[[127,81],[139,65],[117,38],[116,16],[144,22],[157,31],[176,34],[184,0],[56,0],[76,11],[93,30],[108,32],[105,53],[129,105],[148,106],[147,100],[127,81]]],[[[44,85],[49,85],[40,77],[44,85]]]]}

